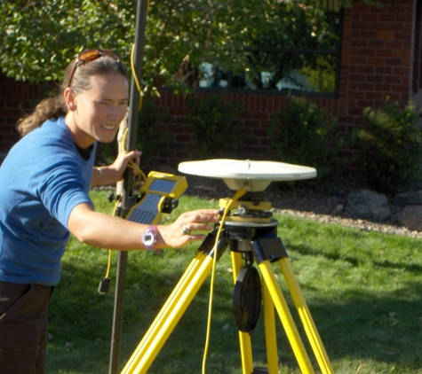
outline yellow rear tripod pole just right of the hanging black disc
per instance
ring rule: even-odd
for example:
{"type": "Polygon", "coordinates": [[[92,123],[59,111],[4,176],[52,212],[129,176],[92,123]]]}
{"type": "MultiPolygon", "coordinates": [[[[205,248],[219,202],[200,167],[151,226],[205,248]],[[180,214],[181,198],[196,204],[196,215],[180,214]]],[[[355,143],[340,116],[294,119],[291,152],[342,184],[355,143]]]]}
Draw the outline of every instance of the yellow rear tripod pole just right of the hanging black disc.
{"type": "Polygon", "coordinates": [[[275,331],[275,308],[265,279],[262,282],[262,300],[264,304],[264,326],[267,346],[267,368],[269,374],[278,373],[277,339],[275,331]]]}

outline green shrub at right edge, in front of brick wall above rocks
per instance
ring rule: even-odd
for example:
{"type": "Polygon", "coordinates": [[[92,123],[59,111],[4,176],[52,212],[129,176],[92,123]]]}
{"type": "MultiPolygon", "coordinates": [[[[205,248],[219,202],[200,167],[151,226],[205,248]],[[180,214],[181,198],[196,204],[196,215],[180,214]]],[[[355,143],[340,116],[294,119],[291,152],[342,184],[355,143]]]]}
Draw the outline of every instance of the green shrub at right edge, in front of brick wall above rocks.
{"type": "Polygon", "coordinates": [[[416,126],[420,110],[401,109],[388,99],[362,113],[362,129],[353,133],[358,151],[356,175],[377,191],[401,192],[421,180],[422,134],[416,126]]]}

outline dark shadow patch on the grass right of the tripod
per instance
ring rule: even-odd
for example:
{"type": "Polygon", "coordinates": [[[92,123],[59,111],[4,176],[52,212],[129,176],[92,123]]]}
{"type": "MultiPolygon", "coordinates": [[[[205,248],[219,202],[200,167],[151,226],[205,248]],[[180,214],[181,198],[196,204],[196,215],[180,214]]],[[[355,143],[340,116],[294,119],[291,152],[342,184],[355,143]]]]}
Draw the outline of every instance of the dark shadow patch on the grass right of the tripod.
{"type": "Polygon", "coordinates": [[[422,285],[371,297],[362,292],[338,294],[338,300],[312,300],[309,308],[330,360],[346,357],[396,363],[403,370],[422,369],[421,302],[405,295],[422,292],[422,285]],[[344,301],[346,300],[346,301],[344,301]]]}

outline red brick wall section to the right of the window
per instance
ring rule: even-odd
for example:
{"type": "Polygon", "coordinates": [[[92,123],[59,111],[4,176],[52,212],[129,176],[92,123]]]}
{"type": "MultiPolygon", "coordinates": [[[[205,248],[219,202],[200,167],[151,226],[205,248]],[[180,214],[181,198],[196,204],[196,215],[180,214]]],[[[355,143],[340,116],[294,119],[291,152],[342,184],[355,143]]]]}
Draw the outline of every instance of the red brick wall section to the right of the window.
{"type": "Polygon", "coordinates": [[[354,2],[345,12],[338,107],[346,131],[360,123],[365,107],[377,107],[386,97],[401,105],[412,98],[416,2],[382,3],[377,9],[354,2]]]}

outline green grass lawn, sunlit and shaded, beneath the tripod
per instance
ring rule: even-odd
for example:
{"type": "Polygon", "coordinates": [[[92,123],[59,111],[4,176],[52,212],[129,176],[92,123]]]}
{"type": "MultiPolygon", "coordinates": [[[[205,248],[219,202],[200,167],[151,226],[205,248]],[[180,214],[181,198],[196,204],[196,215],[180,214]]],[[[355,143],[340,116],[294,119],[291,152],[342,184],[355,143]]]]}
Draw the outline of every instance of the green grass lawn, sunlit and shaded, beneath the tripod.
{"type": "MultiPolygon", "coordinates": [[[[98,210],[111,214],[107,191],[92,192],[98,210]]],[[[217,207],[217,201],[182,197],[163,215],[171,222],[185,210],[217,207]]],[[[336,373],[422,374],[422,256],[416,238],[367,232],[336,224],[275,214],[278,235],[289,252],[295,276],[336,373]]],[[[122,236],[124,232],[122,232],[122,236]]],[[[179,281],[198,244],[129,253],[124,293],[121,361],[140,339],[179,281]]],[[[107,268],[107,251],[74,238],[63,258],[62,278],[50,307],[48,373],[107,373],[114,303],[113,253],[110,292],[97,292],[107,268]]],[[[241,373],[232,312],[233,278],[229,251],[217,264],[207,373],[241,373]]],[[[278,266],[275,274],[293,306],[278,266]]],[[[195,296],[148,373],[200,373],[203,361],[210,277],[195,296]]],[[[300,333],[294,307],[292,315],[300,333]]],[[[277,322],[281,373],[299,373],[281,323],[277,322]]],[[[252,334],[253,360],[265,365],[262,318],[252,334]]],[[[307,338],[304,336],[306,347],[307,338]]],[[[315,362],[312,350],[308,350],[315,362]]],[[[315,372],[320,372],[315,364],[315,372]]]]}

